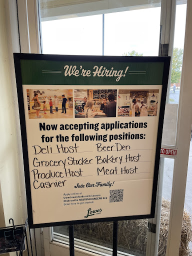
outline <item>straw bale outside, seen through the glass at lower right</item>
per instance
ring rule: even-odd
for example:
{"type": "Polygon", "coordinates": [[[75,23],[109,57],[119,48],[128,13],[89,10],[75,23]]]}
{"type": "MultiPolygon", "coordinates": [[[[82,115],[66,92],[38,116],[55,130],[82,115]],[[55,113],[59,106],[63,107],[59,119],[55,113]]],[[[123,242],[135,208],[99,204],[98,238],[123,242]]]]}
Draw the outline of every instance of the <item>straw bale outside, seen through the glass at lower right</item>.
{"type": "MultiPolygon", "coordinates": [[[[158,256],[165,256],[168,235],[170,202],[162,199],[158,256]]],[[[118,250],[134,255],[145,255],[147,219],[118,221],[118,250]]],[[[74,225],[76,238],[112,248],[112,222],[74,225]]],[[[188,244],[192,239],[191,217],[184,210],[179,256],[189,256],[188,244]]]]}

